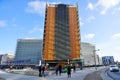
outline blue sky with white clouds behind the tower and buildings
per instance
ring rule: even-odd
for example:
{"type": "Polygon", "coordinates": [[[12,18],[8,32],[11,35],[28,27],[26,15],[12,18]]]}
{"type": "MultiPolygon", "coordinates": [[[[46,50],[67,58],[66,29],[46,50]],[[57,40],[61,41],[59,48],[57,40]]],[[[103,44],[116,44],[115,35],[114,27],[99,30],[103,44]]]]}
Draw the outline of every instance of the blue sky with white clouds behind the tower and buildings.
{"type": "Polygon", "coordinates": [[[81,42],[120,61],[120,0],[0,0],[0,54],[15,53],[17,39],[43,39],[46,2],[78,3],[81,42]]]}

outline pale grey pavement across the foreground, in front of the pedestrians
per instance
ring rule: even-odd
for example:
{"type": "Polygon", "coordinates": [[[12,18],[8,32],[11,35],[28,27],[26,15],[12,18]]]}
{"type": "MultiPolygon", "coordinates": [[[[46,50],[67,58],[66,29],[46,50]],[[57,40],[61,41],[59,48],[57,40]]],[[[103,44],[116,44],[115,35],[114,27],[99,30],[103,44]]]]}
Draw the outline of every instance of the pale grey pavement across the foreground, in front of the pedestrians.
{"type": "MultiPolygon", "coordinates": [[[[99,67],[98,70],[103,69],[104,67],[99,67]]],[[[95,68],[86,68],[83,70],[77,70],[75,73],[72,72],[71,78],[68,78],[67,73],[62,73],[61,76],[56,76],[55,74],[49,75],[46,77],[38,76],[27,76],[21,74],[11,74],[0,71],[0,78],[6,80],[84,80],[85,76],[89,73],[96,71],[95,68]]]]}

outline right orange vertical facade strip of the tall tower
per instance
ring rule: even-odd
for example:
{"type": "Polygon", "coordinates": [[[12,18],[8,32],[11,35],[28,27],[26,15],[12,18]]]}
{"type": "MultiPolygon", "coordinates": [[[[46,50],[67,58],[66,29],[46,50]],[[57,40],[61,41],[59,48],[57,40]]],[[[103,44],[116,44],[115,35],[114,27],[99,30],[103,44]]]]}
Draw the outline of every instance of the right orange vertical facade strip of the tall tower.
{"type": "Polygon", "coordinates": [[[69,7],[70,53],[71,59],[80,58],[80,39],[77,7],[69,7]]]}

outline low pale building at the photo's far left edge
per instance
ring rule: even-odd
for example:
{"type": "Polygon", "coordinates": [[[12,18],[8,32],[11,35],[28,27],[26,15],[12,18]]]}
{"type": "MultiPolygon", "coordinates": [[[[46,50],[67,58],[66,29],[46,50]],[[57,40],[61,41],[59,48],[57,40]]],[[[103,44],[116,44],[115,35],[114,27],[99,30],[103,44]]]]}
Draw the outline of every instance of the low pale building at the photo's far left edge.
{"type": "Polygon", "coordinates": [[[1,57],[1,65],[10,65],[14,60],[14,54],[3,54],[1,57]]]}

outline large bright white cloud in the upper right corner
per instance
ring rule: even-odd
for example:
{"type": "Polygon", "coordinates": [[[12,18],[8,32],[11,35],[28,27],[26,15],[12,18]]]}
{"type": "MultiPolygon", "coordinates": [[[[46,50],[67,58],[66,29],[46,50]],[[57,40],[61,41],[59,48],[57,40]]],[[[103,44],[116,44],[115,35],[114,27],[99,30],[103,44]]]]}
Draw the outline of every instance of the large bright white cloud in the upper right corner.
{"type": "Polygon", "coordinates": [[[99,0],[96,4],[96,7],[101,7],[102,11],[100,13],[104,15],[109,9],[117,7],[119,4],[120,0],[99,0]]]}

